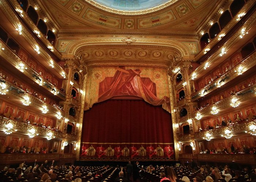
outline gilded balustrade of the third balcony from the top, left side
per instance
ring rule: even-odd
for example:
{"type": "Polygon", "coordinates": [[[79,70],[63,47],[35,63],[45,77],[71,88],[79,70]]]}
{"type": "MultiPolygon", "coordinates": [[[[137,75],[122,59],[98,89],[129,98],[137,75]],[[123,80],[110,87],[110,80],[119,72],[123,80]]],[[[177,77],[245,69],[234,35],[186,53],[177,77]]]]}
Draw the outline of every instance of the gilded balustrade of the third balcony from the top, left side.
{"type": "MultiPolygon", "coordinates": [[[[3,57],[8,63],[12,64],[14,67],[18,69],[19,64],[22,63],[24,64],[24,69],[23,74],[28,76],[31,80],[34,82],[38,83],[39,85],[41,84],[44,86],[44,88],[50,92],[53,93],[53,89],[56,91],[54,92],[59,98],[65,99],[65,94],[63,94],[59,89],[57,89],[52,83],[48,82],[44,78],[41,77],[37,72],[35,72],[32,68],[30,68],[25,62],[23,62],[14,52],[10,50],[8,46],[6,46],[2,40],[0,40],[0,47],[4,48],[0,49],[0,56],[3,57]]],[[[54,94],[53,93],[53,94],[54,94]]]]}

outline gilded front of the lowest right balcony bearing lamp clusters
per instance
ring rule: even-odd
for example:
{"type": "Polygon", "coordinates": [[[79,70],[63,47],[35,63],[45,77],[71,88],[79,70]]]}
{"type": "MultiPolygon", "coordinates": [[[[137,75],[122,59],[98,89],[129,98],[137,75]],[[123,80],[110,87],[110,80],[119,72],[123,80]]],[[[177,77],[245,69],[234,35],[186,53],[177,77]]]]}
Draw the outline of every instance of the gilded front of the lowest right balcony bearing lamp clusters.
{"type": "Polygon", "coordinates": [[[212,138],[219,138],[219,137],[221,137],[221,135],[223,135],[225,133],[226,129],[229,129],[229,131],[231,131],[231,134],[233,136],[237,136],[240,134],[244,134],[245,131],[248,131],[249,126],[251,124],[256,124],[256,122],[251,121],[251,122],[247,122],[247,123],[233,124],[231,126],[226,126],[226,127],[219,127],[219,128],[215,128],[212,130],[200,131],[200,132],[196,132],[194,134],[194,136],[195,136],[195,140],[203,140],[203,137],[205,136],[205,134],[207,132],[209,132],[211,134],[212,138]]]}

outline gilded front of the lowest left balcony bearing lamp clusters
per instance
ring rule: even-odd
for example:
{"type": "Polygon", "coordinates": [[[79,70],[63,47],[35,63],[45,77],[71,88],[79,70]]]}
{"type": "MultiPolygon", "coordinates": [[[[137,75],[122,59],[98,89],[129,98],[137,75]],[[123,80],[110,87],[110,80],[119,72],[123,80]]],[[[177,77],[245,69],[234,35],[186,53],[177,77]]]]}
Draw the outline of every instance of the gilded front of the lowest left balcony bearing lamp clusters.
{"type": "MultiPolygon", "coordinates": [[[[31,125],[31,124],[19,122],[19,121],[16,121],[16,120],[12,120],[12,119],[8,119],[8,118],[4,118],[3,116],[0,116],[0,130],[3,130],[5,128],[5,125],[9,122],[11,122],[13,124],[13,128],[18,130],[16,132],[19,133],[19,134],[27,135],[28,134],[28,129],[31,129],[33,127],[33,125],[31,125]]],[[[53,130],[50,130],[48,128],[43,128],[43,127],[39,127],[39,126],[35,127],[35,128],[36,128],[36,132],[38,133],[39,137],[46,137],[48,132],[53,132],[53,135],[55,136],[55,139],[62,139],[63,138],[61,132],[53,131],[53,130]]]]}

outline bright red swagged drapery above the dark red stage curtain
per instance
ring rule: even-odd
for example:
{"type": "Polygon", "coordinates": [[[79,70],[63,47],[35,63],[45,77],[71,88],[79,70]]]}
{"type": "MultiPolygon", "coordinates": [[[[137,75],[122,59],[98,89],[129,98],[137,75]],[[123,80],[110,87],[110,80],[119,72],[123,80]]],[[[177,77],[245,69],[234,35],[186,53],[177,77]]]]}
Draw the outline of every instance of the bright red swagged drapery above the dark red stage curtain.
{"type": "Polygon", "coordinates": [[[141,78],[140,70],[117,68],[113,77],[105,78],[99,83],[98,102],[108,100],[114,96],[137,96],[146,102],[162,107],[170,112],[170,99],[167,96],[159,99],[156,96],[156,85],[150,78],[141,78]]]}

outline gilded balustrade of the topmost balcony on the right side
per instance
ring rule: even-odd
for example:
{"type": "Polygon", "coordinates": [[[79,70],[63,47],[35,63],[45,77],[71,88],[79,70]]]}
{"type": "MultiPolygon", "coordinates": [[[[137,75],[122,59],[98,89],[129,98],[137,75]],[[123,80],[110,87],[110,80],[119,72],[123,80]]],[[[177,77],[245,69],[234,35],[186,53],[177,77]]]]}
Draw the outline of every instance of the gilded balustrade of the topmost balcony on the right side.
{"type": "MultiPolygon", "coordinates": [[[[204,47],[204,49],[202,49],[196,56],[195,56],[195,60],[198,60],[199,58],[201,58],[205,53],[205,50],[210,50],[212,47],[215,46],[215,44],[217,44],[221,39],[219,39],[219,35],[226,35],[227,32],[229,32],[231,30],[231,28],[234,27],[234,25],[237,24],[237,22],[240,20],[238,19],[238,15],[240,15],[241,13],[246,13],[249,11],[249,9],[251,9],[251,7],[253,6],[253,4],[255,3],[254,0],[248,0],[246,2],[246,4],[244,5],[244,7],[242,7],[240,9],[240,11],[236,14],[236,16],[234,16],[229,23],[227,23],[227,25],[218,33],[217,36],[214,37],[214,39],[212,39],[209,44],[204,47]]],[[[199,72],[197,72],[199,73],[199,72]]]]}

